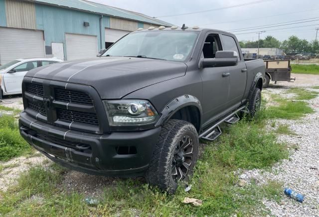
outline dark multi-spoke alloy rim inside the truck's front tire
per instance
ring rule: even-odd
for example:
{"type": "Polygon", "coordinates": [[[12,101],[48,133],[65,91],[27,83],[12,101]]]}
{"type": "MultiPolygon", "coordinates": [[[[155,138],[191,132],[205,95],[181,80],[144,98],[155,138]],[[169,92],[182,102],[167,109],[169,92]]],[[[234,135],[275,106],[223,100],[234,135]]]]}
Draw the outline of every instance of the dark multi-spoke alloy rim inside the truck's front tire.
{"type": "Polygon", "coordinates": [[[185,135],[177,143],[171,163],[171,175],[176,183],[187,176],[192,161],[193,143],[190,136],[185,135]]]}

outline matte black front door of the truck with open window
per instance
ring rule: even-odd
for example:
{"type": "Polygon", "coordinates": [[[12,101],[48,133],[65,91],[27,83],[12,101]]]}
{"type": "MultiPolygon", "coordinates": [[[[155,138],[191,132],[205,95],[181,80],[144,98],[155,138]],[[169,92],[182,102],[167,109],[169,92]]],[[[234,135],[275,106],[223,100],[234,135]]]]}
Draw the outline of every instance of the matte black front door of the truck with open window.
{"type": "MultiPolygon", "coordinates": [[[[208,33],[202,44],[200,58],[215,58],[215,53],[221,50],[218,34],[208,33]]],[[[203,122],[210,122],[214,117],[227,108],[230,78],[227,75],[228,67],[203,68],[200,71],[203,84],[202,109],[203,122]]]]}

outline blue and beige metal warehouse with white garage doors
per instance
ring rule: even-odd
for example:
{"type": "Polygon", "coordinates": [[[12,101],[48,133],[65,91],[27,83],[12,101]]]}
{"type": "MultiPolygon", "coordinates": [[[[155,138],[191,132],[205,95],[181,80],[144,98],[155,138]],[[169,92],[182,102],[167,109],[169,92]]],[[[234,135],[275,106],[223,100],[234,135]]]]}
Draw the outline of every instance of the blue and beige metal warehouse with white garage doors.
{"type": "Polygon", "coordinates": [[[86,0],[0,0],[0,64],[18,58],[96,57],[138,28],[171,26],[86,0]]]}

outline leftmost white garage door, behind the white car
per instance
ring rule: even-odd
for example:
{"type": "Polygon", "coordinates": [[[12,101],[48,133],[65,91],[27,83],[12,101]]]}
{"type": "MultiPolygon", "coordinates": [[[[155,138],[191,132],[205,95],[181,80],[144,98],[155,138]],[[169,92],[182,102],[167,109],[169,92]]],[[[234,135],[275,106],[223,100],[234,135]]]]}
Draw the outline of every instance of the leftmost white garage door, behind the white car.
{"type": "Polygon", "coordinates": [[[42,31],[0,27],[0,64],[44,56],[42,31]]]}

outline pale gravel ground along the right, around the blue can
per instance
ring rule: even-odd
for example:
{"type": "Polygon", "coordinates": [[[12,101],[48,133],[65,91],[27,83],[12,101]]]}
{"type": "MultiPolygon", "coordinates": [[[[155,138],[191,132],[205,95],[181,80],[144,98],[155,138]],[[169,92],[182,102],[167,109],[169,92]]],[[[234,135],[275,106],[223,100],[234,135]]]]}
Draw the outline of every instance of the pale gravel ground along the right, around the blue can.
{"type": "MultiPolygon", "coordinates": [[[[318,89],[311,89],[315,85],[319,85],[319,76],[310,84],[282,82],[278,86],[272,85],[263,91],[263,95],[267,98],[270,94],[279,94],[293,99],[294,95],[284,94],[289,86],[306,87],[308,90],[319,92],[318,89]]],[[[306,196],[304,203],[296,202],[286,196],[280,203],[264,199],[263,203],[274,216],[319,216],[319,97],[307,102],[315,113],[308,114],[300,120],[276,120],[276,126],[287,124],[297,134],[278,137],[279,141],[286,142],[290,147],[290,158],[277,163],[271,171],[254,169],[240,175],[240,179],[246,182],[254,179],[259,184],[275,180],[283,183],[284,187],[292,188],[306,196]]]]}

